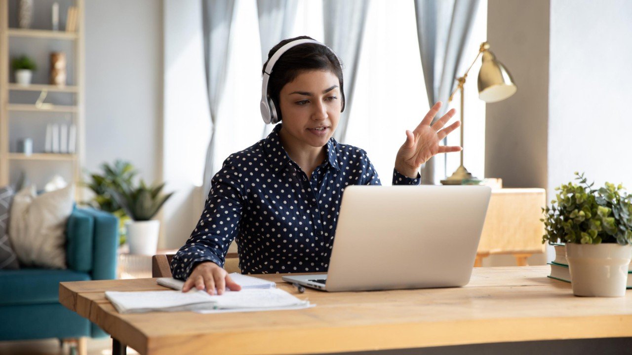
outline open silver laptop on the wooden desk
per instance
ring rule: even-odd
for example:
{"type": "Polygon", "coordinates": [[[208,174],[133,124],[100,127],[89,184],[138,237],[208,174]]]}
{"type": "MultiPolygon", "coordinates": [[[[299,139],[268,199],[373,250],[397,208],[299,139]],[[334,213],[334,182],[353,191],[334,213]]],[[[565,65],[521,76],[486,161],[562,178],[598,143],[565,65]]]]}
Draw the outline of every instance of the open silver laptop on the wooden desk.
{"type": "Polygon", "coordinates": [[[464,286],[491,192],[487,186],[348,186],[327,275],[283,280],[331,292],[464,286]]]}

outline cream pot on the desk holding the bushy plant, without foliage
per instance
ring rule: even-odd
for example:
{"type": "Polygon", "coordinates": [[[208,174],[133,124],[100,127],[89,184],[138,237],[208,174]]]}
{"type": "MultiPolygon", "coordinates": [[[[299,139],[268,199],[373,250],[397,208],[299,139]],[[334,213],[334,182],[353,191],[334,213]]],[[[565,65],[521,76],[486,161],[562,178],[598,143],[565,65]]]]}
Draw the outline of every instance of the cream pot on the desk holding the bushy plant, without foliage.
{"type": "Polygon", "coordinates": [[[625,296],[632,245],[568,243],[566,259],[575,296],[625,296]]]}

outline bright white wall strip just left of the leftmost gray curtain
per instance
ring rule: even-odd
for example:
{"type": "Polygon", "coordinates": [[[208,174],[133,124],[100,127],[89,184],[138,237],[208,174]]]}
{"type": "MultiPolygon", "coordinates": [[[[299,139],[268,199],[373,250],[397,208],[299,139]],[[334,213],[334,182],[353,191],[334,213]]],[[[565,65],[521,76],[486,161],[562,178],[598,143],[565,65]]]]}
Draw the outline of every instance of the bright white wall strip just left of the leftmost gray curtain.
{"type": "Polygon", "coordinates": [[[210,116],[201,11],[199,1],[164,1],[162,171],[167,181],[165,191],[176,193],[162,209],[159,248],[182,246],[202,213],[200,186],[210,138],[210,116]]]}

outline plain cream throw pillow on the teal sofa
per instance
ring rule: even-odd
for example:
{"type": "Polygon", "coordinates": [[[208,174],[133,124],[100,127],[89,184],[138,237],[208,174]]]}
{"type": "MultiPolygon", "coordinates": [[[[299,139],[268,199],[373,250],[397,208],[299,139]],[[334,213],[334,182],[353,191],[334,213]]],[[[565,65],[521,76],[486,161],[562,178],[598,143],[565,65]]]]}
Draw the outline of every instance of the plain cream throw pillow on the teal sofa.
{"type": "Polygon", "coordinates": [[[25,266],[66,268],[66,222],[73,210],[73,186],[37,196],[35,187],[13,198],[9,238],[25,266]]]}

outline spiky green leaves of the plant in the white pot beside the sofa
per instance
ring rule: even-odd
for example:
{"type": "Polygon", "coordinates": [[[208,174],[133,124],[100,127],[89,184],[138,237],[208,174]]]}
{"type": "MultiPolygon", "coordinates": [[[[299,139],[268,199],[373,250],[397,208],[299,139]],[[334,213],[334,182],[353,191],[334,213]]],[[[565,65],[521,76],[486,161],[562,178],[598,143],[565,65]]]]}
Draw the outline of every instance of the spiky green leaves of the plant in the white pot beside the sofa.
{"type": "Polygon", "coordinates": [[[111,190],[111,194],[131,219],[150,220],[173,195],[173,192],[163,195],[162,188],[164,183],[148,186],[140,180],[137,188],[126,186],[123,191],[111,190]]]}

